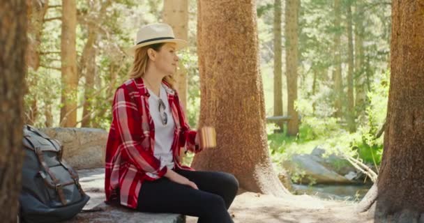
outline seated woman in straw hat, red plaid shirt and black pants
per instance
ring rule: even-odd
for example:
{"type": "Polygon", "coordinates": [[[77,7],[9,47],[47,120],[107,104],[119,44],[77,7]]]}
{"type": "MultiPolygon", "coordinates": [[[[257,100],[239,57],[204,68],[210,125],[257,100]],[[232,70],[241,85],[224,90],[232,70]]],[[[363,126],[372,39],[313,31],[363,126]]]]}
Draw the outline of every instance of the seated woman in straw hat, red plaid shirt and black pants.
{"type": "Polygon", "coordinates": [[[195,171],[180,154],[198,153],[172,75],[186,44],[167,24],[142,26],[131,48],[130,79],[115,93],[106,148],[105,193],[110,203],[152,213],[179,213],[199,222],[233,222],[227,209],[239,183],[231,174],[195,171]],[[184,151],[183,151],[184,150],[184,151]]]}

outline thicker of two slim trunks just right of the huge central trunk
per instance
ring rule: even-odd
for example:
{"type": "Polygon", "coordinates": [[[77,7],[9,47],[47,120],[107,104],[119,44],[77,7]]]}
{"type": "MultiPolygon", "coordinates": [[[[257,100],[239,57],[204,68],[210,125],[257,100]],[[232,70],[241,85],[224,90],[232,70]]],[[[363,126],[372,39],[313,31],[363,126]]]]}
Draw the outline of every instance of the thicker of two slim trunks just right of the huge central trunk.
{"type": "Polygon", "coordinates": [[[297,100],[297,63],[298,63],[298,0],[286,0],[285,33],[286,33],[286,72],[287,72],[287,113],[290,121],[287,134],[296,136],[299,132],[298,112],[294,108],[297,100]]]}

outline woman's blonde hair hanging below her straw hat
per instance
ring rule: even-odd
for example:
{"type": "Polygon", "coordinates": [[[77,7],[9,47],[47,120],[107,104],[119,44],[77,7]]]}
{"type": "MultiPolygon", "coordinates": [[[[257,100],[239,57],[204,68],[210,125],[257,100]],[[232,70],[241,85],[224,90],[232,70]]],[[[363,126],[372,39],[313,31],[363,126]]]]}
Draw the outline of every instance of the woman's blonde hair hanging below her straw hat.
{"type": "MultiPolygon", "coordinates": [[[[165,43],[156,43],[135,49],[134,62],[132,63],[129,77],[134,79],[143,77],[146,73],[147,64],[149,63],[149,55],[147,55],[147,50],[153,49],[155,51],[159,51],[162,45],[165,45],[165,43]]],[[[174,89],[175,79],[172,76],[166,76],[162,79],[162,81],[165,81],[167,84],[169,84],[169,86],[171,86],[172,89],[174,89]]]]}

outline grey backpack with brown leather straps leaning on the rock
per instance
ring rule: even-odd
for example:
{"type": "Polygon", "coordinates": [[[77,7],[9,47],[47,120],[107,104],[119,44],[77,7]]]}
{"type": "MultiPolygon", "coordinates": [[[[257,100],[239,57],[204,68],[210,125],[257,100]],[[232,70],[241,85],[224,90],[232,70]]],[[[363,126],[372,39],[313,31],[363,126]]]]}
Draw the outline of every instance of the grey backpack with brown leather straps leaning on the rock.
{"type": "Polygon", "coordinates": [[[79,185],[77,172],[62,160],[59,141],[24,125],[22,142],[22,222],[60,222],[77,215],[90,197],[79,185]]]}

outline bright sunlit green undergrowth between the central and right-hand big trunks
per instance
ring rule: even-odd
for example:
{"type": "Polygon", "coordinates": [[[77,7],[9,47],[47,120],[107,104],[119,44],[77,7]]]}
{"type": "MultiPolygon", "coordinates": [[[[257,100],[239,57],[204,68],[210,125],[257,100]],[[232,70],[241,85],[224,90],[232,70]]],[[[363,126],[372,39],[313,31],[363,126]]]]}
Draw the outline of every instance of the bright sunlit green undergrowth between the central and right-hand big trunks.
{"type": "MultiPolygon", "coordinates": [[[[319,146],[326,151],[324,156],[331,153],[347,155],[366,164],[377,165],[378,169],[383,152],[383,137],[377,138],[376,135],[386,118],[389,76],[389,72],[375,75],[378,78],[374,79],[368,93],[365,115],[358,118],[358,131],[354,133],[345,130],[344,123],[339,119],[326,117],[324,114],[329,114],[328,111],[314,112],[308,100],[297,103],[298,112],[305,114],[298,137],[287,137],[284,132],[275,134],[275,125],[267,125],[268,147],[274,167],[279,170],[281,163],[291,159],[292,155],[309,154],[313,148],[319,146]]],[[[345,161],[331,162],[335,169],[346,164],[345,161]]],[[[301,170],[291,175],[294,182],[298,182],[303,176],[301,170]]]]}

